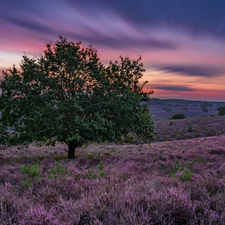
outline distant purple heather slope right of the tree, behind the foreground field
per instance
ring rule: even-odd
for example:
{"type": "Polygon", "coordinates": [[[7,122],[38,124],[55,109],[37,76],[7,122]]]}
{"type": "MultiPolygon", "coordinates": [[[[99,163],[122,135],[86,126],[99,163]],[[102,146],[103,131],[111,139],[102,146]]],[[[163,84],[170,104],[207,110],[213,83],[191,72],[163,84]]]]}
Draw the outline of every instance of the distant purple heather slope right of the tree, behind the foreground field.
{"type": "Polygon", "coordinates": [[[155,132],[155,141],[172,141],[225,134],[225,116],[157,121],[155,132]]]}

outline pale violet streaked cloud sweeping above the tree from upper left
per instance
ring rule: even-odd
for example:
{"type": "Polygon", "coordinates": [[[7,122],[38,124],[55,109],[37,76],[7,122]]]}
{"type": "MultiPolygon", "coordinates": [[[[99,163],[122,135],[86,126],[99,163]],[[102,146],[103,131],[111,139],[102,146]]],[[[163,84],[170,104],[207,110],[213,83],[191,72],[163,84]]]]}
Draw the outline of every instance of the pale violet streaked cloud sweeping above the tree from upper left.
{"type": "Polygon", "coordinates": [[[0,22],[7,31],[3,33],[4,38],[8,39],[10,35],[7,34],[13,32],[8,28],[12,24],[16,26],[14,32],[17,33],[31,31],[45,37],[58,37],[61,34],[96,47],[138,50],[178,49],[177,43],[166,38],[158,39],[142,34],[139,29],[141,25],[130,24],[123,14],[118,15],[120,12],[113,10],[115,6],[113,2],[94,0],[84,3],[40,0],[33,4],[28,0],[21,0],[19,4],[15,0],[10,2],[3,0],[0,2],[0,22]],[[12,4],[17,8],[16,13],[11,10],[12,4]]]}

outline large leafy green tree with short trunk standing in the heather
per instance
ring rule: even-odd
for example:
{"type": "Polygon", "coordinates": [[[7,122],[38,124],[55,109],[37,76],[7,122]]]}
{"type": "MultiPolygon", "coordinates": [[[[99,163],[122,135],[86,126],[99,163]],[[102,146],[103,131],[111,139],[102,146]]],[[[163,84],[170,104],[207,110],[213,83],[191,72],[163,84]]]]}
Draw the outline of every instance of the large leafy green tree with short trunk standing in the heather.
{"type": "Polygon", "coordinates": [[[153,91],[139,84],[143,64],[120,56],[103,65],[92,46],[65,38],[46,44],[40,58],[23,56],[20,70],[3,71],[0,141],[7,145],[119,143],[128,135],[153,138],[153,121],[142,101],[153,91]],[[13,130],[8,129],[13,127],[13,130]]]}

